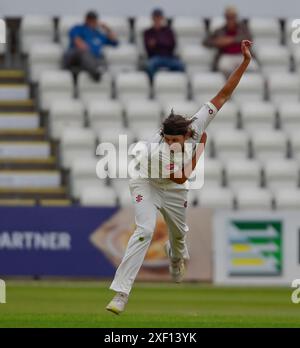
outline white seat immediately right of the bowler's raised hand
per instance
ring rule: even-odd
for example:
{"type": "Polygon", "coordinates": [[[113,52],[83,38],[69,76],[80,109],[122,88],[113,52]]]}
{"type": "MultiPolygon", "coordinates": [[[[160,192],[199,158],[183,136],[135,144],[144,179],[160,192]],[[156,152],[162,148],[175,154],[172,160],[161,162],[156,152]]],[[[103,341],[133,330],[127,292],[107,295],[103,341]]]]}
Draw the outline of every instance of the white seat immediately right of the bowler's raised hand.
{"type": "Polygon", "coordinates": [[[255,49],[262,72],[289,72],[291,68],[291,55],[285,46],[263,45],[255,49]]]}

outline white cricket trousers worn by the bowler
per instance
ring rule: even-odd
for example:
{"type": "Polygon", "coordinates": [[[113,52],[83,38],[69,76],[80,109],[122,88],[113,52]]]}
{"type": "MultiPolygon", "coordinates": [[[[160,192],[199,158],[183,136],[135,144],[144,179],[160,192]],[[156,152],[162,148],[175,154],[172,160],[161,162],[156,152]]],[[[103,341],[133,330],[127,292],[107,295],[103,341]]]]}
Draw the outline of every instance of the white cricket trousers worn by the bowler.
{"type": "Polygon", "coordinates": [[[151,243],[157,212],[162,213],[169,230],[171,258],[185,260],[189,254],[185,242],[187,189],[167,189],[147,179],[130,180],[135,208],[136,230],[129,239],[123,260],[118,267],[111,290],[129,294],[151,243]]]}

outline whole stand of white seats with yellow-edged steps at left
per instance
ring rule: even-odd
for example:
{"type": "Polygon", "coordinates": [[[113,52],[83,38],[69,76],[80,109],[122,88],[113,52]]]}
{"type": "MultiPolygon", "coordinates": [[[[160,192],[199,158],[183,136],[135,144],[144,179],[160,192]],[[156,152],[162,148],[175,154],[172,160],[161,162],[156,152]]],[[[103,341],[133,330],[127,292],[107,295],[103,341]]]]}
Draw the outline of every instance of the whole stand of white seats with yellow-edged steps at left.
{"type": "MultiPolygon", "coordinates": [[[[102,19],[121,45],[105,49],[108,72],[95,82],[62,69],[68,30],[82,18],[63,16],[57,27],[51,17],[22,18],[20,66],[0,70],[1,205],[129,204],[126,180],[96,177],[96,145],[118,144],[119,134],[129,145],[146,140],[172,108],[192,116],[224,83],[201,45],[203,19],[172,19],[186,72],[161,71],[153,84],[140,64],[151,18],[102,19]]],[[[211,18],[209,30],[223,20],[211,18]]],[[[210,125],[204,188],[191,198],[213,208],[298,209],[300,50],[287,39],[289,19],[284,31],[277,19],[248,22],[260,70],[242,78],[210,125]]]]}

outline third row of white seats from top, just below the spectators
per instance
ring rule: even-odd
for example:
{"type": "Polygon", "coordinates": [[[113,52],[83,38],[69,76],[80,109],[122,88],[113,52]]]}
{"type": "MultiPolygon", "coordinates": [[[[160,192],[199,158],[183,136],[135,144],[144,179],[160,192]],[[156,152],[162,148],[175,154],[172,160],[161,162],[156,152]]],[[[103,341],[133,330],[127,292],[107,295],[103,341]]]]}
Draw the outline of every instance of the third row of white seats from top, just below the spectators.
{"type": "MultiPolygon", "coordinates": [[[[45,71],[39,80],[39,101],[42,110],[49,110],[58,99],[80,98],[85,105],[93,100],[116,97],[123,103],[156,99],[161,103],[193,99],[198,103],[210,100],[224,85],[221,73],[197,73],[190,79],[185,73],[158,72],[150,85],[146,73],[120,73],[115,79],[104,74],[101,82],[94,82],[80,73],[76,90],[68,71],[45,71]]],[[[274,103],[300,101],[300,76],[295,73],[273,73],[263,78],[258,73],[246,73],[232,96],[239,104],[270,100],[274,103]],[[267,98],[268,97],[268,98],[267,98]]]]}

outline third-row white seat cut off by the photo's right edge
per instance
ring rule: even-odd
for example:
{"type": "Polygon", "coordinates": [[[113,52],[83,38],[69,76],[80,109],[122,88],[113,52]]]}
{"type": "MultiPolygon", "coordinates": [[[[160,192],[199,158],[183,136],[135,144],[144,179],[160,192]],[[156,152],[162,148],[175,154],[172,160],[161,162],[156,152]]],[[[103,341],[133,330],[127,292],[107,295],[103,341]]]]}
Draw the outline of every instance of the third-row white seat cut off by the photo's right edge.
{"type": "Polygon", "coordinates": [[[293,73],[273,73],[267,80],[270,99],[280,105],[286,101],[299,101],[300,78],[293,73]]]}

